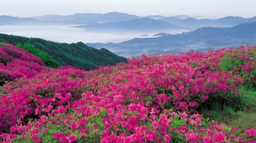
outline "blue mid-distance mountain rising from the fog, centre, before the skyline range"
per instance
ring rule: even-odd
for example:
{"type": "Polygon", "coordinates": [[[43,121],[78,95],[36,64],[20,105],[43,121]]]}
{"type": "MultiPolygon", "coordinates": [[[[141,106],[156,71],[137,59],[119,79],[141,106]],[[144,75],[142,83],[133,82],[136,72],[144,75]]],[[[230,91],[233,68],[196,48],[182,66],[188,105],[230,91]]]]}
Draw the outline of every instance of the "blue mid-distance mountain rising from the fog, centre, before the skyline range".
{"type": "Polygon", "coordinates": [[[109,23],[97,23],[91,25],[75,26],[77,28],[85,28],[92,31],[165,31],[167,29],[180,29],[181,27],[167,23],[165,21],[158,21],[150,18],[133,19],[129,21],[118,21],[109,23]]]}

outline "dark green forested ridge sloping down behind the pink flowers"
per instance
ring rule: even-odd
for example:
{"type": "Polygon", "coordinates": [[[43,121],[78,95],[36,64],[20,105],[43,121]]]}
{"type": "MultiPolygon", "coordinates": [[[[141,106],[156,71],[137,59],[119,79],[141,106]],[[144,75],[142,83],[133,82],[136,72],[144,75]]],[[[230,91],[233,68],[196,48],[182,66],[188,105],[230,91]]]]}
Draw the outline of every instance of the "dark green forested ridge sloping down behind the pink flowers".
{"type": "Polygon", "coordinates": [[[11,44],[31,44],[35,48],[48,53],[61,65],[71,65],[80,69],[94,69],[98,65],[115,65],[127,62],[127,59],[115,55],[107,49],[95,49],[82,42],[57,43],[39,38],[28,38],[0,33],[0,42],[11,44]]]}

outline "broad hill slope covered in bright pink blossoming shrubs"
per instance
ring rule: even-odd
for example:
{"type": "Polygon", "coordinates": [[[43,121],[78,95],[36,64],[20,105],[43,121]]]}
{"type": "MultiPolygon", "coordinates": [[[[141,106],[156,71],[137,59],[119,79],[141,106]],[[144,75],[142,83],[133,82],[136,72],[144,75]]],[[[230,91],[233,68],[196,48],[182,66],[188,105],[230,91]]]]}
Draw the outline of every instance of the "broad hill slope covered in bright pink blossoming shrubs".
{"type": "Polygon", "coordinates": [[[0,47],[9,81],[0,88],[1,142],[255,143],[256,128],[206,117],[213,104],[238,103],[241,86],[255,88],[256,46],[143,55],[91,71],[46,68],[0,47]]]}

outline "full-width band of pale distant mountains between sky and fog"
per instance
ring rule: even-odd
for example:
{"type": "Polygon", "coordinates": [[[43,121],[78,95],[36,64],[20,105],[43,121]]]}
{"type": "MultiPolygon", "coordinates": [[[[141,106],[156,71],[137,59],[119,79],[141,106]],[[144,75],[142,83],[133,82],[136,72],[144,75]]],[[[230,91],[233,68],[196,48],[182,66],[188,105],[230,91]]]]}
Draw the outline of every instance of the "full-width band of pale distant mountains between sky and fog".
{"type": "MultiPolygon", "coordinates": [[[[88,28],[89,30],[95,30],[98,28],[111,30],[125,29],[129,25],[135,26],[138,24],[138,28],[144,27],[147,22],[150,24],[145,29],[159,29],[162,27],[163,21],[171,24],[166,26],[165,23],[163,28],[166,27],[181,27],[184,29],[195,30],[201,27],[233,27],[241,23],[255,22],[256,16],[251,18],[244,18],[239,16],[226,16],[219,19],[196,19],[187,15],[177,16],[137,16],[129,15],[127,13],[120,12],[109,12],[109,13],[76,13],[74,15],[44,15],[38,17],[12,17],[12,16],[0,16],[0,25],[81,25],[79,27],[88,28]],[[148,18],[148,19],[145,19],[148,18]],[[142,19],[142,20],[140,20],[142,19]],[[158,20],[161,22],[153,21],[158,20]],[[151,25],[154,23],[153,25],[151,25]],[[117,26],[115,29],[114,27],[117,26]],[[141,27],[140,27],[141,26],[141,27]],[[151,27],[152,26],[152,27],[151,27]]],[[[78,27],[78,28],[79,28],[78,27]]],[[[130,30],[131,28],[126,28],[130,30]]]]}

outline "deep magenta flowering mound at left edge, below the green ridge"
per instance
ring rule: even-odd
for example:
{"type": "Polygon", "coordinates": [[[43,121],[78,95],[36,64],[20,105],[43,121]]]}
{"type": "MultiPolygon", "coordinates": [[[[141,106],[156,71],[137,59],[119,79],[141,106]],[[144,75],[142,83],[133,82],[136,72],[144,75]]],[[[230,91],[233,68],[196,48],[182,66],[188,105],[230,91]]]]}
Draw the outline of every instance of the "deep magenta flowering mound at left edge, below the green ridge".
{"type": "Polygon", "coordinates": [[[45,69],[40,58],[26,52],[14,45],[0,44],[0,85],[5,81],[32,77],[45,69]]]}

